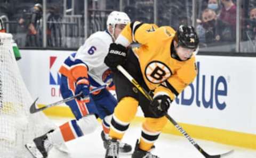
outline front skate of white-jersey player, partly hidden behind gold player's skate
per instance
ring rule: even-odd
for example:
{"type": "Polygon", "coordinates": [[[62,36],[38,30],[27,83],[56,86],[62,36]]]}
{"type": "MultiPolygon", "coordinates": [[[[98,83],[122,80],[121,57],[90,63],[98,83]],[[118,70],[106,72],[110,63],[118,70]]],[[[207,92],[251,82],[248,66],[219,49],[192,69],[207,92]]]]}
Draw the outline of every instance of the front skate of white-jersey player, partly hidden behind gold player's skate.
{"type": "MultiPolygon", "coordinates": [[[[103,130],[101,131],[101,139],[103,141],[103,146],[105,149],[108,147],[109,139],[106,138],[103,130]]],[[[120,154],[131,154],[132,146],[127,143],[119,142],[119,152],[120,154]]]]}

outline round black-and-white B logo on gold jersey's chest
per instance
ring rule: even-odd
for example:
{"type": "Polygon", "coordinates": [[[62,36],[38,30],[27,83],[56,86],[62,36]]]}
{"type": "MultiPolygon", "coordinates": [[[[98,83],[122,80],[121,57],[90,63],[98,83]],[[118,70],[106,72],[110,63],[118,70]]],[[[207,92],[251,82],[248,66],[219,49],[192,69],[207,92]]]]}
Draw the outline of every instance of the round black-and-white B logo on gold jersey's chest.
{"type": "Polygon", "coordinates": [[[145,76],[151,83],[162,83],[172,75],[169,67],[164,63],[153,61],[150,62],[145,69],[145,76]]]}

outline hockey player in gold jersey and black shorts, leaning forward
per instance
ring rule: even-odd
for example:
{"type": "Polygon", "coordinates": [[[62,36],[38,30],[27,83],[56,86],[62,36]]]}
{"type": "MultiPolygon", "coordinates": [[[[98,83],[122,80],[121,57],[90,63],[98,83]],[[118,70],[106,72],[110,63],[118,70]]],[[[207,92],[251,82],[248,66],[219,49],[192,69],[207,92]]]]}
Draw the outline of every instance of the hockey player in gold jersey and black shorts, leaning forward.
{"type": "Polygon", "coordinates": [[[111,120],[106,158],[118,157],[118,145],[130,122],[141,107],[145,121],[132,158],[158,157],[150,153],[154,142],[166,125],[165,112],[171,102],[196,77],[195,52],[198,37],[191,26],[171,27],[132,22],[124,28],[115,43],[111,43],[105,63],[114,72],[118,104],[111,120]],[[139,48],[127,49],[132,43],[139,48]],[[135,80],[153,96],[150,102],[117,71],[122,65],[135,80]]]}

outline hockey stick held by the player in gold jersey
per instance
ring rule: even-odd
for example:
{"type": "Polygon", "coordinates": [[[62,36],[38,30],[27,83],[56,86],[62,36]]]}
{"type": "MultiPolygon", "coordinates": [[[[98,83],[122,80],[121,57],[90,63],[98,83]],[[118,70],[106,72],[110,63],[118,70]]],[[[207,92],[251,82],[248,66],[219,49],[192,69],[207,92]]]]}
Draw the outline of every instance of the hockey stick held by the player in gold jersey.
{"type": "MultiPolygon", "coordinates": [[[[143,95],[145,95],[146,98],[147,98],[150,102],[153,101],[153,98],[151,97],[151,95],[149,95],[149,93],[148,93],[145,89],[143,89],[143,87],[141,87],[141,86],[139,85],[139,83],[138,83],[136,80],[134,80],[134,78],[133,78],[121,65],[118,65],[118,66],[117,66],[117,69],[118,69],[135,87],[137,87],[137,89],[138,89],[143,95]]],[[[197,150],[198,150],[200,153],[202,153],[202,154],[204,155],[204,157],[206,157],[206,158],[220,158],[220,157],[228,156],[228,155],[230,155],[230,154],[233,152],[233,150],[231,150],[231,151],[229,151],[229,152],[227,152],[227,153],[219,154],[219,155],[209,155],[209,154],[207,154],[207,153],[194,141],[194,139],[191,138],[191,137],[187,134],[187,132],[186,132],[170,115],[168,115],[167,113],[165,113],[165,117],[166,117],[167,119],[169,119],[169,120],[172,122],[172,124],[180,131],[180,133],[181,133],[183,136],[185,136],[185,137],[188,139],[188,141],[189,141],[191,144],[193,144],[193,145],[197,148],[197,150]]]]}

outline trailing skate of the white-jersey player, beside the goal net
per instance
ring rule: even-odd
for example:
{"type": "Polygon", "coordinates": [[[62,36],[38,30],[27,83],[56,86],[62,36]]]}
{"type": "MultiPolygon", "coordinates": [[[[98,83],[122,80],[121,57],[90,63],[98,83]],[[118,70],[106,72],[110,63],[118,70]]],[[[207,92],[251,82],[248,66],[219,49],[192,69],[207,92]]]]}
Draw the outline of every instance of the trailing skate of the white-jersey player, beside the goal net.
{"type": "MultiPolygon", "coordinates": [[[[53,130],[52,130],[53,131],[53,130]]],[[[48,133],[52,132],[49,131],[48,133]]],[[[51,150],[53,145],[47,139],[47,134],[39,136],[33,140],[34,143],[26,144],[28,151],[36,158],[46,158],[48,152],[51,150]]]]}

